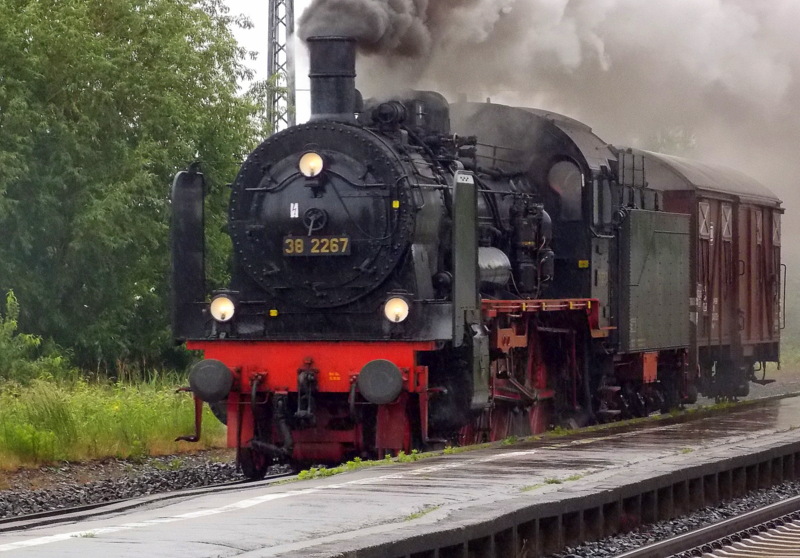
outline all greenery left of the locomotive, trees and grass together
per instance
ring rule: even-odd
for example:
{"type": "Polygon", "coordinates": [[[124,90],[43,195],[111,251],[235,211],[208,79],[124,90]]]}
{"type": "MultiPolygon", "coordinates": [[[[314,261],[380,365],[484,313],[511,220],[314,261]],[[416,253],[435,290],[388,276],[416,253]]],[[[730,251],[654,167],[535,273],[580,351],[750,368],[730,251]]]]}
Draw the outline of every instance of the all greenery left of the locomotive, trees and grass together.
{"type": "MultiPolygon", "coordinates": [[[[0,468],[200,444],[168,328],[169,192],[200,161],[207,271],[225,184],[268,135],[222,0],[0,0],[0,468]],[[88,380],[91,378],[91,381],[88,380]]],[[[167,465],[169,466],[169,465],[167,465]]]]}

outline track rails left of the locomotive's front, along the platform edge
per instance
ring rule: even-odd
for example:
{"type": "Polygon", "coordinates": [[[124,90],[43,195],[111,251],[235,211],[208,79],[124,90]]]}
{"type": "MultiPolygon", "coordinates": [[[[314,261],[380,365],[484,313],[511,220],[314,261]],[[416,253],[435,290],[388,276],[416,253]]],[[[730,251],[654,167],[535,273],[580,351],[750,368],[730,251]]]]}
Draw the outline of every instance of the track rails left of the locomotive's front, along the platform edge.
{"type": "Polygon", "coordinates": [[[295,477],[294,473],[280,473],[277,475],[270,475],[260,481],[240,480],[225,482],[219,484],[211,484],[202,488],[186,488],[175,492],[163,492],[161,494],[153,494],[150,496],[134,496],[131,498],[124,498],[119,500],[110,500],[108,502],[95,502],[91,504],[84,504],[81,506],[72,506],[69,508],[50,510],[45,512],[32,513],[27,515],[18,515],[15,517],[5,517],[0,519],[0,533],[8,533],[13,531],[24,531],[35,527],[43,527],[47,525],[56,525],[66,521],[78,521],[87,519],[97,515],[105,515],[108,513],[124,512],[141,506],[157,504],[159,502],[167,502],[176,498],[185,498],[187,496],[203,496],[205,494],[214,494],[220,492],[228,492],[238,490],[242,487],[258,487],[265,486],[280,479],[295,477]]]}

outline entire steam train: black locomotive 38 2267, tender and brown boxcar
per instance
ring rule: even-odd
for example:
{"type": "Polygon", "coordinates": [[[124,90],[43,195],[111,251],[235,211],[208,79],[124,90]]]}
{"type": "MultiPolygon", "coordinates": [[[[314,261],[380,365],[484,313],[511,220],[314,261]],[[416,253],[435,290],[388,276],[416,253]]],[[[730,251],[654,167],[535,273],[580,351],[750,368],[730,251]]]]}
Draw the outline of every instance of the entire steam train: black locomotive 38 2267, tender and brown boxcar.
{"type": "Polygon", "coordinates": [[[544,111],[363,101],[354,40],[308,46],[310,122],[264,141],[232,185],[228,288],[205,290],[202,174],[172,189],[173,329],[203,351],[198,430],[207,402],[247,476],[644,416],[698,387],[734,397],[777,359],[766,189],[713,190],[544,111]],[[712,205],[761,215],[752,281],[737,279],[744,241],[706,234],[712,205]],[[720,275],[717,248],[733,266],[720,275]],[[719,317],[735,289],[760,293],[750,337],[719,317]]]}

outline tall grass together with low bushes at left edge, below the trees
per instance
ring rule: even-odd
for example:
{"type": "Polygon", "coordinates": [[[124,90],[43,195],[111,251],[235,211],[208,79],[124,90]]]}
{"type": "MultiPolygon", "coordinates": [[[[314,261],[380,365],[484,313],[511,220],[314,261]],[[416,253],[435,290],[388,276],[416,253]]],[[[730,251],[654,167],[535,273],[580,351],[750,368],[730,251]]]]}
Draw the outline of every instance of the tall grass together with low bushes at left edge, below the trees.
{"type": "Polygon", "coordinates": [[[20,333],[19,312],[9,292],[0,305],[0,469],[223,444],[224,429],[210,411],[200,444],[173,441],[194,430],[194,403],[175,393],[183,383],[177,374],[88,381],[40,337],[20,333]]]}

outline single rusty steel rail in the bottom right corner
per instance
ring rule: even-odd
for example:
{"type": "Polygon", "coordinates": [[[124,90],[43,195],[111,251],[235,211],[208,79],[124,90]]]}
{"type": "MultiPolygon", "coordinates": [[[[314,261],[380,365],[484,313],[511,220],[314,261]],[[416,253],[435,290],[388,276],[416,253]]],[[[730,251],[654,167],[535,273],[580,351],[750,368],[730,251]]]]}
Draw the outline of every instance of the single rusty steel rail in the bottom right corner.
{"type": "Polygon", "coordinates": [[[710,552],[715,550],[709,546],[711,543],[797,512],[800,512],[800,496],[618,554],[615,558],[666,558],[701,547],[708,547],[710,552]]]}

